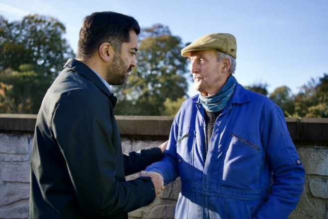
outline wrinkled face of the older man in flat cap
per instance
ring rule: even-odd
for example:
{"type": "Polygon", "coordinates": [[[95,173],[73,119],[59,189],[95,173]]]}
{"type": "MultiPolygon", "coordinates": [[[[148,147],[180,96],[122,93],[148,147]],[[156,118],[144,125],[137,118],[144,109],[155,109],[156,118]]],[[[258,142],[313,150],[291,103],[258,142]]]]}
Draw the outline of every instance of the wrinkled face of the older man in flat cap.
{"type": "Polygon", "coordinates": [[[191,52],[191,73],[194,88],[208,96],[216,94],[227,81],[227,74],[222,73],[223,62],[217,61],[215,49],[191,52]]]}

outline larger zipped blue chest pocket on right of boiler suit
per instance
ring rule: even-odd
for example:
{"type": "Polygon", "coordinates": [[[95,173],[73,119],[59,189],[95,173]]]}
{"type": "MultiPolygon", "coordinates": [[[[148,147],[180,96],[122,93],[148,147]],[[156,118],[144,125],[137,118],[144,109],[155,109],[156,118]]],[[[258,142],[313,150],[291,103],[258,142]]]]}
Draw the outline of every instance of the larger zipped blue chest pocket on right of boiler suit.
{"type": "Polygon", "coordinates": [[[258,189],[264,162],[260,138],[245,129],[229,131],[223,163],[222,185],[240,189],[258,189]]]}

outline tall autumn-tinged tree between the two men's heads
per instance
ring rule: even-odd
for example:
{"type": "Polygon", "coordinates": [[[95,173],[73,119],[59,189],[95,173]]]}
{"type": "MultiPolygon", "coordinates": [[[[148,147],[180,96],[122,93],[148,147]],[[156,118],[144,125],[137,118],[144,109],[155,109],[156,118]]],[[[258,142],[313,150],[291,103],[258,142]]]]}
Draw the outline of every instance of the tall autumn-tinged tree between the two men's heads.
{"type": "Polygon", "coordinates": [[[180,55],[181,39],[162,24],[144,28],[140,36],[137,68],[127,83],[114,87],[116,114],[161,115],[166,99],[187,96],[187,59],[180,55]]]}

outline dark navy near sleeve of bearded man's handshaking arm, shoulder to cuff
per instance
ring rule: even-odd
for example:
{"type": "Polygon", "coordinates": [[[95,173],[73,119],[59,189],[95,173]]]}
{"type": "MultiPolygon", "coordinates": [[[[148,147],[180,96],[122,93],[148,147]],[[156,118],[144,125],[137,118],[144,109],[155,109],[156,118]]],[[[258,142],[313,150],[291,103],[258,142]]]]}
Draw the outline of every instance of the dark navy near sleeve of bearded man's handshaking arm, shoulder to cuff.
{"type": "Polygon", "coordinates": [[[52,120],[76,198],[90,217],[127,213],[155,199],[150,178],[126,182],[116,178],[123,162],[112,141],[110,110],[107,97],[99,92],[73,91],[58,104],[52,120]]]}

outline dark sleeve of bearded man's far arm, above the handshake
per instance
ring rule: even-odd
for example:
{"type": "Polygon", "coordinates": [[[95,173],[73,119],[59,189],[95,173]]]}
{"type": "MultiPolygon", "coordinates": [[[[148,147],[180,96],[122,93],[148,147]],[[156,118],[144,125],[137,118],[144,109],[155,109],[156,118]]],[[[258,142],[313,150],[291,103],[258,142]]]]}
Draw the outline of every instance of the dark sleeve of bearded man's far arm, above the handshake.
{"type": "Polygon", "coordinates": [[[152,163],[160,161],[163,153],[159,147],[152,147],[140,151],[133,151],[123,155],[125,175],[138,173],[152,163]]]}

